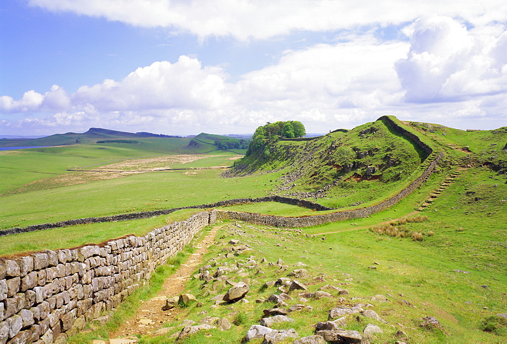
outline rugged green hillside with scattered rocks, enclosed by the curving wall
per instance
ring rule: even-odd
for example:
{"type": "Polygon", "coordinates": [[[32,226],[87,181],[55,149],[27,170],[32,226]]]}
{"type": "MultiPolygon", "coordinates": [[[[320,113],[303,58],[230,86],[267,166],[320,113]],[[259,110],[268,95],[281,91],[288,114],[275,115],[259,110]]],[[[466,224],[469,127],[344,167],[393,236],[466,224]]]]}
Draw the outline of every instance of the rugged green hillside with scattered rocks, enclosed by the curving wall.
{"type": "Polygon", "coordinates": [[[278,141],[270,149],[268,160],[251,155],[236,163],[236,170],[248,167],[244,171],[263,171],[284,167],[282,173],[291,174],[303,170],[296,181],[296,186],[288,192],[313,192],[341,177],[342,181],[331,189],[329,197],[319,202],[329,207],[350,207],[358,204],[367,205],[393,195],[404,185],[422,172],[418,167],[426,154],[412,141],[397,134],[382,121],[366,123],[347,133],[336,132],[324,135],[312,141],[278,141]],[[360,131],[375,127],[375,134],[361,135],[360,131]],[[333,146],[332,146],[333,145],[333,146]],[[361,167],[346,172],[336,157],[338,148],[356,149],[359,152],[373,151],[374,155],[364,158],[354,157],[350,163],[357,162],[361,167]],[[308,159],[309,152],[313,158],[308,159]],[[396,162],[395,166],[386,166],[386,155],[396,162]],[[366,166],[378,168],[379,180],[357,180],[354,174],[364,175],[366,166]]]}

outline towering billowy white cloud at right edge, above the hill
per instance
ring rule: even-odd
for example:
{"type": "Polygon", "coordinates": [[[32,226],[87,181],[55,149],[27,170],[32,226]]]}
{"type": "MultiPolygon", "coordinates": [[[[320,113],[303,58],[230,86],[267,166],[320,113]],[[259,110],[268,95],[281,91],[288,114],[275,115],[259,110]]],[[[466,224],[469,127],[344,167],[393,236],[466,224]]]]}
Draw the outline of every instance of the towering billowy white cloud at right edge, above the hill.
{"type": "Polygon", "coordinates": [[[409,102],[466,100],[507,91],[507,32],[467,30],[449,17],[419,19],[395,69],[409,102]]]}

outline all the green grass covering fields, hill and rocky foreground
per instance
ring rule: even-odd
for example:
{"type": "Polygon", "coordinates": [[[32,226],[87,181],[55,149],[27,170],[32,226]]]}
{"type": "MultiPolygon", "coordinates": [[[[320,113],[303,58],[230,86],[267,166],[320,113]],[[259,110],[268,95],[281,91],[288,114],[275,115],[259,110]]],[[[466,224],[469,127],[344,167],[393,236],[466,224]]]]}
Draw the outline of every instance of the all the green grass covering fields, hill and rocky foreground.
{"type": "MultiPolygon", "coordinates": [[[[412,143],[404,142],[399,135],[392,135],[389,130],[379,130],[379,135],[382,135],[371,137],[370,140],[358,135],[360,130],[371,126],[372,124],[365,124],[349,133],[327,135],[316,146],[312,146],[313,141],[281,141],[277,146],[278,151],[273,151],[273,160],[263,162],[261,170],[283,169],[273,173],[258,171],[255,174],[232,178],[223,178],[221,173],[225,171],[225,167],[234,164],[239,155],[219,150],[204,153],[211,147],[206,147],[208,144],[191,149],[188,147],[191,139],[135,138],[139,144],[89,143],[3,151],[0,152],[0,229],[282,194],[279,187],[282,186],[283,180],[279,178],[297,171],[298,164],[307,164],[307,171],[291,190],[285,192],[313,191],[339,175],[337,168],[332,166],[336,161],[328,152],[333,142],[347,144],[359,151],[373,149],[375,145],[381,146],[382,149],[389,147],[377,155],[363,158],[365,165],[385,164],[385,154],[390,154],[400,161],[398,168],[393,169],[392,173],[388,169],[384,170],[386,176],[399,174],[399,178],[393,177],[389,181],[354,179],[349,178],[354,173],[351,171],[343,174],[344,180],[324,198],[311,199],[323,205],[343,209],[367,206],[394,195],[420,175],[428,163],[425,161],[421,164],[424,158],[421,152],[412,143]],[[391,152],[392,147],[400,149],[391,152]],[[305,158],[309,151],[313,154],[313,160],[295,158],[298,155],[305,158]],[[283,157],[286,159],[283,160],[283,157]],[[291,160],[292,158],[294,160],[291,160]],[[283,166],[284,162],[288,162],[287,166],[283,166]],[[135,172],[206,167],[224,169],[135,172]],[[80,171],[71,172],[67,169],[80,171]],[[107,170],[123,172],[104,172],[107,170]]],[[[333,284],[348,289],[350,295],[347,295],[347,302],[352,302],[350,297],[358,297],[357,302],[368,302],[371,296],[377,294],[388,298],[389,302],[386,303],[372,302],[374,310],[388,324],[372,319],[361,318],[360,322],[352,317],[349,319],[347,329],[362,331],[367,322],[372,322],[384,330],[384,334],[378,335],[372,343],[393,342],[394,333],[399,329],[409,335],[408,342],[505,341],[504,332],[507,330],[503,327],[499,326],[495,329],[496,332],[490,333],[482,331],[481,324],[497,313],[507,313],[507,267],[504,264],[507,259],[507,184],[505,174],[497,172],[502,168],[503,161],[506,161],[507,153],[501,148],[505,144],[502,140],[507,139],[507,134],[502,130],[497,133],[461,132],[445,127],[433,128],[434,133],[426,133],[424,129],[432,128],[427,124],[411,126],[413,130],[417,129],[421,135],[425,135],[427,140],[431,140],[434,146],[443,147],[446,156],[438,171],[432,174],[426,183],[390,209],[367,218],[301,228],[302,234],[282,228],[248,226],[244,223],[241,223],[239,228],[232,222],[225,222],[226,225],[217,237],[218,241],[222,240],[224,243],[222,246],[212,247],[205,261],[221,256],[226,242],[234,237],[248,243],[253,251],[235,257],[236,261],[220,258],[219,265],[225,261],[229,266],[237,262],[244,263],[252,254],[256,261],[260,261],[262,257],[266,257],[268,261],[282,258],[289,264],[290,269],[283,275],[265,265],[259,267],[264,275],[253,275],[257,269],[248,270],[251,302],[234,304],[239,315],[230,320],[235,321],[237,326],[231,331],[208,331],[207,335],[210,335],[213,341],[238,342],[250,325],[258,323],[262,310],[267,308],[266,303],[256,303],[255,299],[276,292],[274,288],[262,289],[262,284],[286,277],[290,271],[296,269],[293,264],[298,261],[308,265],[305,269],[312,277],[302,282],[307,283],[312,291],[325,284],[333,284]],[[465,145],[479,157],[479,163],[473,167],[459,168],[457,177],[446,183],[447,176],[458,171],[460,159],[469,155],[469,152],[459,150],[465,145]],[[491,164],[500,167],[496,170],[489,169],[491,164]],[[446,186],[441,187],[444,184],[446,186]],[[420,209],[431,196],[435,197],[421,212],[428,219],[403,224],[407,231],[423,233],[422,240],[378,235],[370,230],[370,227],[381,223],[391,223],[399,227],[401,224],[397,223],[396,219],[413,216],[415,209],[420,209]],[[238,228],[246,231],[246,234],[240,236],[238,228]],[[325,240],[321,240],[322,237],[325,237],[325,240]],[[370,269],[371,266],[376,269],[370,269]],[[482,285],[487,288],[481,287],[482,285]],[[437,317],[450,335],[444,331],[419,327],[420,319],[428,315],[437,317]]],[[[208,136],[204,139],[211,143],[213,136],[208,136]]],[[[234,205],[224,209],[279,216],[333,212],[316,212],[273,202],[234,205]]],[[[198,210],[182,210],[150,219],[76,225],[0,237],[0,255],[100,243],[128,234],[143,235],[171,221],[184,220],[196,212],[198,210]]],[[[224,223],[220,225],[222,224],[224,223]]],[[[161,269],[156,276],[163,279],[171,271],[173,270],[161,269]]],[[[240,280],[235,274],[231,274],[230,278],[234,281],[240,280]]],[[[160,281],[157,283],[155,284],[160,285],[160,281]]],[[[180,323],[183,319],[200,320],[204,316],[200,314],[203,310],[208,312],[207,315],[217,317],[230,313],[231,310],[226,310],[226,307],[209,308],[209,305],[214,303],[210,300],[213,295],[205,292],[210,288],[213,290],[212,286],[203,288],[201,281],[189,281],[188,291],[203,300],[205,305],[202,308],[192,306],[180,310],[178,320],[165,326],[175,326],[173,332],[176,332],[181,329],[180,323]]],[[[224,293],[225,288],[217,285],[214,289],[216,293],[224,293]]],[[[139,291],[138,295],[151,295],[155,290],[156,287],[150,291],[139,291]]],[[[297,297],[292,303],[296,301],[297,297]]],[[[136,302],[132,299],[125,307],[135,309],[138,306],[136,302]]],[[[327,312],[335,307],[337,302],[341,301],[338,301],[338,298],[310,300],[307,304],[314,307],[313,311],[292,313],[290,316],[295,319],[295,323],[292,323],[291,327],[300,335],[311,334],[311,325],[316,321],[325,321],[327,312]],[[308,321],[309,318],[311,321],[308,321]]],[[[99,339],[98,336],[103,336],[106,332],[107,328],[99,329],[99,332],[92,332],[86,335],[86,338],[99,339]]],[[[82,342],[79,338],[71,342],[82,342]]],[[[209,341],[209,337],[202,332],[182,342],[197,343],[206,340],[209,341]]],[[[173,339],[167,336],[140,340],[141,343],[172,341],[173,339]]]]}

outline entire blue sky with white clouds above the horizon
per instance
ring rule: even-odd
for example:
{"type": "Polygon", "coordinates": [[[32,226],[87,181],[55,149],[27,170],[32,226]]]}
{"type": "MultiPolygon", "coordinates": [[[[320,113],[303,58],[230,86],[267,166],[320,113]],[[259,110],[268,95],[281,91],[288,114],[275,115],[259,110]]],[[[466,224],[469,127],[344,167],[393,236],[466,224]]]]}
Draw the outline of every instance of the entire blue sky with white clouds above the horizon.
{"type": "Polygon", "coordinates": [[[507,126],[504,0],[9,0],[0,134],[507,126]],[[407,6],[407,4],[409,4],[407,6]]]}

